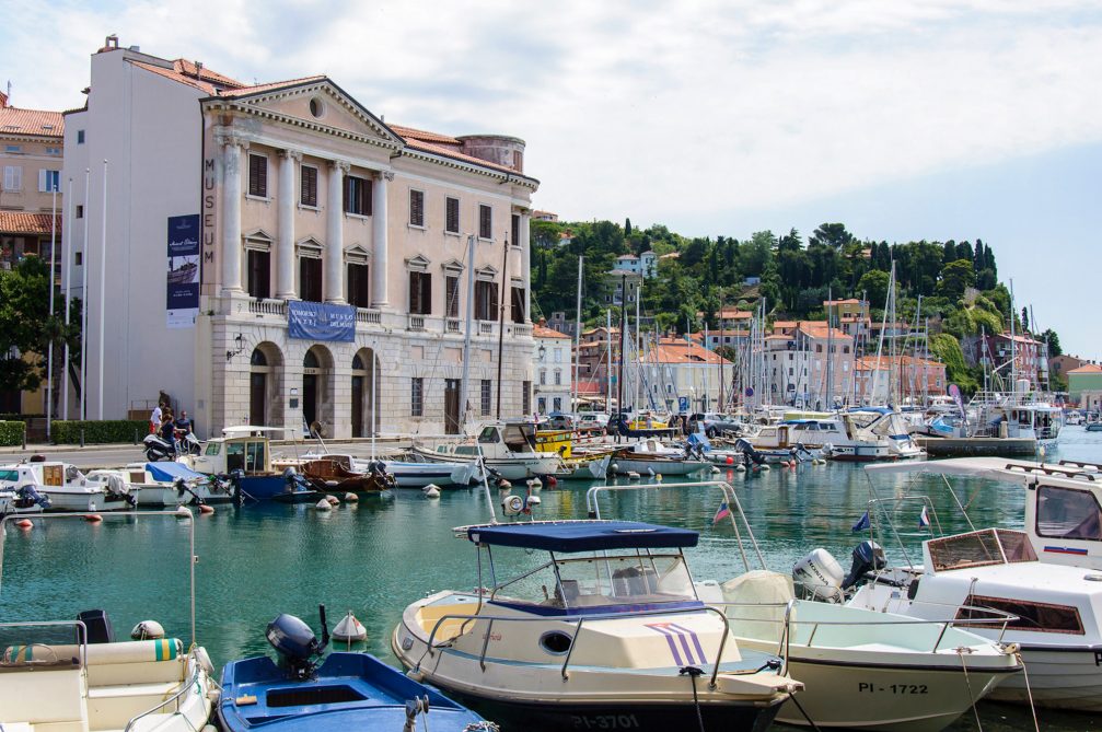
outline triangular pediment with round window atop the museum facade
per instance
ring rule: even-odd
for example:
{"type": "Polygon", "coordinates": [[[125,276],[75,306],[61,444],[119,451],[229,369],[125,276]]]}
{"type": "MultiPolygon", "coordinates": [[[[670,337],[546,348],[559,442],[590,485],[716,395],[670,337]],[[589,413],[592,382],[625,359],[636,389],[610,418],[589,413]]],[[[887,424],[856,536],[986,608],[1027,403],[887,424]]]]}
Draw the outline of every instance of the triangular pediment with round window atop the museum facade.
{"type": "Polygon", "coordinates": [[[404,146],[379,117],[326,76],[224,90],[203,104],[208,109],[233,109],[387,148],[404,146]]]}

